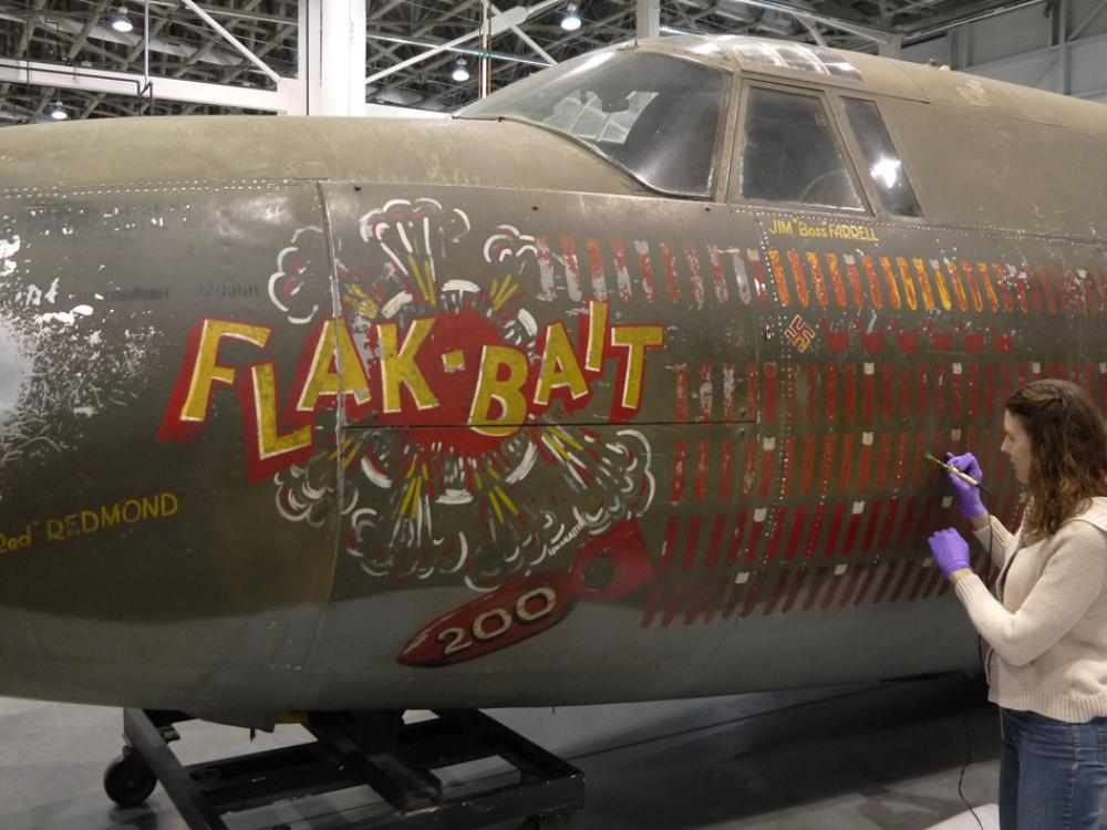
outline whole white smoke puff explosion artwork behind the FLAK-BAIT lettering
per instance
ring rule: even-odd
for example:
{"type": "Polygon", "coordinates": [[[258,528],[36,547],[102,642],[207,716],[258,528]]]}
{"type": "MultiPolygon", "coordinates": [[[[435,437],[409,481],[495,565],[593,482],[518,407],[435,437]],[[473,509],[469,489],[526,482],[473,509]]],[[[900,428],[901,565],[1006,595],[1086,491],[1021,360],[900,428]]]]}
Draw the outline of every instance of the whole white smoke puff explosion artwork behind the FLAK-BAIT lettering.
{"type": "MultiPolygon", "coordinates": [[[[476,240],[470,234],[464,211],[434,199],[395,199],[361,217],[364,248],[346,240],[339,252],[353,346],[371,365],[381,360],[376,332],[385,321],[399,333],[431,319],[436,340],[428,342],[442,352],[443,367],[428,362],[421,371],[442,408],[430,418],[413,411],[413,421],[374,409],[341,446],[317,450],[307,467],[275,478],[278,510],[290,521],[322,527],[328,504],[341,500],[342,544],[373,579],[464,580],[489,590],[537,568],[566,568],[578,548],[644,515],[654,497],[645,436],[576,426],[560,398],[508,435],[470,428],[465,402],[482,344],[503,344],[528,365],[539,363],[540,326],[527,305],[541,281],[535,237],[511,225],[476,240]]],[[[270,282],[291,322],[314,308],[302,287],[324,284],[298,252],[306,239],[281,252],[281,271],[270,282]]]]}

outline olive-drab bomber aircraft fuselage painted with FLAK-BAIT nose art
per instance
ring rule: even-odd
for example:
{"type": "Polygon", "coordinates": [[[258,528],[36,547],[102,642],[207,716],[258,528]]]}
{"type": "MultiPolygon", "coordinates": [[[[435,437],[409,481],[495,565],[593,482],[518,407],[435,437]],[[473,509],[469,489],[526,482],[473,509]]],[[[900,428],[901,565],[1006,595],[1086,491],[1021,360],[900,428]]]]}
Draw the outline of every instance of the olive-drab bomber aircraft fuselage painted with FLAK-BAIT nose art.
{"type": "Polygon", "coordinates": [[[1107,405],[1105,134],[746,37],[443,121],[3,129],[0,694],[270,726],[974,668],[923,454],[1011,526],[1006,397],[1107,405]]]}

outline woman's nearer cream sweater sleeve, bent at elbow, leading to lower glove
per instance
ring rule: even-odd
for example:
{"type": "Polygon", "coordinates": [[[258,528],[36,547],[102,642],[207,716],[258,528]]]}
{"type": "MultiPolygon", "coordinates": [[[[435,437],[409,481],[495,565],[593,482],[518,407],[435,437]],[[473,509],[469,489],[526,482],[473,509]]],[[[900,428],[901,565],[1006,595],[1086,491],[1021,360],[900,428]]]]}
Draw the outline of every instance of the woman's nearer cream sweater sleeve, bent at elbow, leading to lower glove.
{"type": "Polygon", "coordinates": [[[955,585],[976,631],[1013,665],[1030,663],[1056,643],[1104,590],[1107,550],[1103,531],[1076,521],[1063,532],[1065,538],[1015,612],[992,596],[975,574],[955,585]]]}

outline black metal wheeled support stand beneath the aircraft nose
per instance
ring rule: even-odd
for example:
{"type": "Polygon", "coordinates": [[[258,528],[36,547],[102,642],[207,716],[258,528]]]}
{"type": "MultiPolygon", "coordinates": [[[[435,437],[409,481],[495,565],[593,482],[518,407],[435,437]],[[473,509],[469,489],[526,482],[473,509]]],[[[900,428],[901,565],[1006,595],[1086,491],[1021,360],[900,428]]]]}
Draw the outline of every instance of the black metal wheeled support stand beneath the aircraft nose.
{"type": "Polygon", "coordinates": [[[480,712],[435,715],[404,724],[400,712],[312,713],[304,727],[313,743],[186,767],[169,743],[180,738],[174,725],[190,716],[124,709],[130,746],[104,784],[120,803],[138,803],[153,790],[152,771],[190,830],[228,830],[226,813],[358,786],[371,787],[393,811],[345,824],[350,830],[477,828],[583,807],[584,775],[576,767],[480,712]],[[435,769],[494,756],[518,770],[517,782],[443,795],[435,769]]]}

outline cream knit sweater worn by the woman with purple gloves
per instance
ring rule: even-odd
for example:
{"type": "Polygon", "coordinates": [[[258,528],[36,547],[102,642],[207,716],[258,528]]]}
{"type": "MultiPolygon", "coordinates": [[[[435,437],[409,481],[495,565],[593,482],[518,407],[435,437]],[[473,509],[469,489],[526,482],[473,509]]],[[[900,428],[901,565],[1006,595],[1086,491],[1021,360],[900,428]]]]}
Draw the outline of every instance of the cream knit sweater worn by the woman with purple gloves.
{"type": "MultiPolygon", "coordinates": [[[[989,699],[1068,723],[1107,715],[1107,498],[1033,543],[990,521],[999,600],[975,574],[956,583],[992,646],[989,699]]],[[[976,538],[986,548],[989,528],[976,538]]]]}

